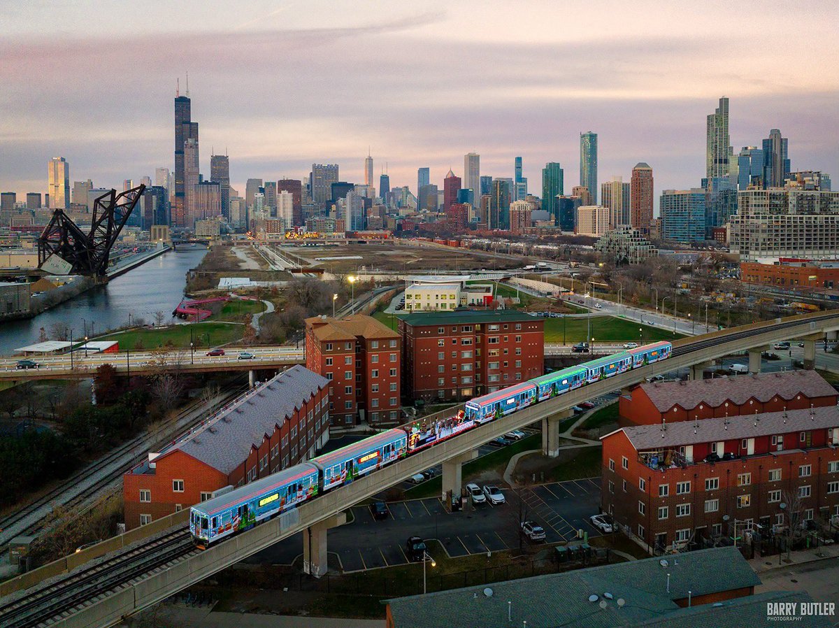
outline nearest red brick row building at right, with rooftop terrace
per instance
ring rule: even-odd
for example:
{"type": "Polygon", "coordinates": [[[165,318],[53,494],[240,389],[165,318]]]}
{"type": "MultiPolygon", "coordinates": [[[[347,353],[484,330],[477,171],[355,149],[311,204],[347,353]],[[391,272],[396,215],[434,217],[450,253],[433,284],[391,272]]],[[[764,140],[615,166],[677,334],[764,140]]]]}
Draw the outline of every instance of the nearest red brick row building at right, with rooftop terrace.
{"type": "Polygon", "coordinates": [[[839,515],[836,406],[622,427],[601,440],[602,510],[644,547],[783,528],[790,511],[839,515]]]}

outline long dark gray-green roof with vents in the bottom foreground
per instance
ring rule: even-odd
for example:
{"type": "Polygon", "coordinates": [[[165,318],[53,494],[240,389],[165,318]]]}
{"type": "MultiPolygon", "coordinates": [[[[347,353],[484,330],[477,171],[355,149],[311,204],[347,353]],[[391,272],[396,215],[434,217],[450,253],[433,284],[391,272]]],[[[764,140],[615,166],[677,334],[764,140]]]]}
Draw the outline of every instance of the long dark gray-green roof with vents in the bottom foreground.
{"type": "Polygon", "coordinates": [[[680,610],[675,600],[687,592],[704,595],[760,584],[760,579],[735,547],[717,547],[659,557],[552,573],[534,578],[467,587],[428,595],[390,599],[395,628],[449,628],[482,626],[550,628],[611,628],[639,625],[645,620],[680,610]],[[670,573],[670,592],[667,574],[670,573]],[[492,589],[487,596],[484,589],[492,589]],[[608,599],[609,594],[612,599],[608,599]],[[589,601],[591,595],[597,600],[589,601]],[[599,602],[606,599],[605,608],[599,602]],[[623,599],[622,608],[617,601],[623,599]],[[508,622],[508,602],[512,623],[508,622]]]}

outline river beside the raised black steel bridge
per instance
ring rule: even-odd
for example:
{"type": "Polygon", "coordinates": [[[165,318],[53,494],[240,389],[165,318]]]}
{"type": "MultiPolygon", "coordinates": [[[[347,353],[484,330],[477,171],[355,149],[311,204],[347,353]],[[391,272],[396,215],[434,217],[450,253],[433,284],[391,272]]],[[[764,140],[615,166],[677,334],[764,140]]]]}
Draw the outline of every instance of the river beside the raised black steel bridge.
{"type": "Polygon", "coordinates": [[[83,338],[85,326],[89,334],[128,325],[128,314],[154,322],[154,312],[163,311],[166,322],[184,296],[186,273],[195,268],[206,255],[202,246],[181,246],[149,260],[84,294],[44,311],[37,317],[0,323],[0,354],[13,353],[15,348],[37,343],[39,330],[47,334],[55,322],[64,322],[73,330],[74,338],[83,338]]]}

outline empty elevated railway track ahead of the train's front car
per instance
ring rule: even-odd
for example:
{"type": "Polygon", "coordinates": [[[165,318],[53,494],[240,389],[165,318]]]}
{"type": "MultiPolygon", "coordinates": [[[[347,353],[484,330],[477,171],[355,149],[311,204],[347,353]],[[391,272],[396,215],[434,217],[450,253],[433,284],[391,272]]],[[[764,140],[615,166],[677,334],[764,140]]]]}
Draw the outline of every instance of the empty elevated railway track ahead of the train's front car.
{"type": "Polygon", "coordinates": [[[30,628],[69,613],[97,595],[116,589],[143,573],[199,552],[189,531],[169,532],[101,563],[76,569],[46,586],[0,606],[3,628],[30,628]]]}

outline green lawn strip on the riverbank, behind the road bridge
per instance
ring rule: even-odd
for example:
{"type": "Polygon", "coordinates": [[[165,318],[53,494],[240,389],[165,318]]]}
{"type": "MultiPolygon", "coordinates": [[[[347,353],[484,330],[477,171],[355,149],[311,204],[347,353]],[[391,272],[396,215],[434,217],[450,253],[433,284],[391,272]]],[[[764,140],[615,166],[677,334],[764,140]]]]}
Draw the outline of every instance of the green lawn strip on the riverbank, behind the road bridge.
{"type": "Polygon", "coordinates": [[[158,329],[132,329],[128,332],[109,333],[107,336],[96,339],[117,340],[120,351],[154,349],[163,347],[169,342],[175,347],[188,348],[190,340],[195,343],[196,348],[207,348],[241,339],[244,329],[245,326],[241,323],[195,322],[158,329]],[[138,343],[140,343],[139,347],[138,343]]]}

